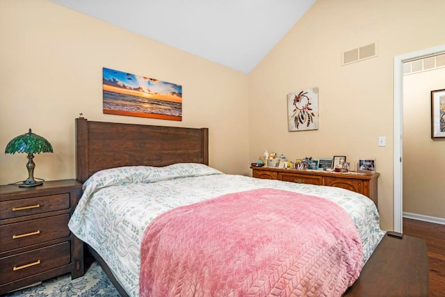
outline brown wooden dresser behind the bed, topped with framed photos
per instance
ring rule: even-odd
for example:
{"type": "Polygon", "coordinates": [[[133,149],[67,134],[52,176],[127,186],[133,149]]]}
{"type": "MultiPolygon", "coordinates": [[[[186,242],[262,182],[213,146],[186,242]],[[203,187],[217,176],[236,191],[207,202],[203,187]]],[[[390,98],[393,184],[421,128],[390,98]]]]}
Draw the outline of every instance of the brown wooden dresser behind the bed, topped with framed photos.
{"type": "Polygon", "coordinates": [[[346,188],[369,197],[377,206],[377,179],[380,173],[374,172],[328,172],[324,170],[295,170],[274,167],[252,166],[252,177],[278,179],[298,184],[316,184],[346,188]]]}

